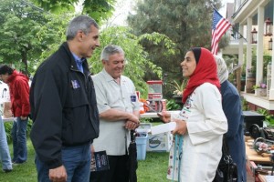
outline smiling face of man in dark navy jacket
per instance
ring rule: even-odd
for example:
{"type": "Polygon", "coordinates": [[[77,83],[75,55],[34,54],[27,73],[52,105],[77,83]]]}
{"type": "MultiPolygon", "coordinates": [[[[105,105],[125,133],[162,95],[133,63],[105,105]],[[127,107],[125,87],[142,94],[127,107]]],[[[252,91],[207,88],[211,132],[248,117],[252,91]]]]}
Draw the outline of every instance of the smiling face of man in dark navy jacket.
{"type": "Polygon", "coordinates": [[[85,35],[83,31],[79,30],[79,56],[91,57],[93,51],[97,46],[100,46],[99,42],[99,30],[94,25],[90,26],[90,34],[85,35]]]}

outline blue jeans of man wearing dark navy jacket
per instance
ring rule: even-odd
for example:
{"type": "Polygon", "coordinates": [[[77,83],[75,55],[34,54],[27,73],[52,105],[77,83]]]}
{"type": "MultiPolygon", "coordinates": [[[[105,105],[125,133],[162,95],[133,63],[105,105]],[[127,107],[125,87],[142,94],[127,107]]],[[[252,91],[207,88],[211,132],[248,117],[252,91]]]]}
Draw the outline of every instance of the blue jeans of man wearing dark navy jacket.
{"type": "MultiPolygon", "coordinates": [[[[66,168],[67,182],[90,181],[90,144],[77,147],[63,147],[61,151],[62,162],[66,168]]],[[[50,182],[48,177],[49,168],[36,157],[38,182],[50,182]]]]}

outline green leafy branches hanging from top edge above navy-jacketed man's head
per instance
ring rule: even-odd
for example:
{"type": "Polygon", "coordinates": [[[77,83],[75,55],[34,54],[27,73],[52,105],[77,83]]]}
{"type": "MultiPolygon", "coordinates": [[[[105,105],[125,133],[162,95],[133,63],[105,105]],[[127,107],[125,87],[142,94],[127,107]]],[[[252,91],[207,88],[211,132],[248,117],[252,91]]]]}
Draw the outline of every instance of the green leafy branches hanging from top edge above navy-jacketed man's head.
{"type": "Polygon", "coordinates": [[[32,0],[40,7],[54,14],[64,14],[66,12],[75,12],[76,5],[83,6],[81,14],[88,14],[98,23],[106,20],[114,11],[116,0],[32,0]]]}

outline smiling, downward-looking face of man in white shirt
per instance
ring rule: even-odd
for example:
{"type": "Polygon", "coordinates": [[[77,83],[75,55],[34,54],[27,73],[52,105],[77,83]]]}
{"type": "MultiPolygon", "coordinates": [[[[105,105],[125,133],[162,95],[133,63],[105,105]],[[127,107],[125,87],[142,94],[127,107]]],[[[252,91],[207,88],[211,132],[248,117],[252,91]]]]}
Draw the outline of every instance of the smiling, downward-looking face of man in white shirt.
{"type": "Polygon", "coordinates": [[[116,79],[122,74],[125,64],[124,55],[121,53],[115,53],[109,56],[109,61],[102,60],[102,63],[107,73],[116,79]]]}

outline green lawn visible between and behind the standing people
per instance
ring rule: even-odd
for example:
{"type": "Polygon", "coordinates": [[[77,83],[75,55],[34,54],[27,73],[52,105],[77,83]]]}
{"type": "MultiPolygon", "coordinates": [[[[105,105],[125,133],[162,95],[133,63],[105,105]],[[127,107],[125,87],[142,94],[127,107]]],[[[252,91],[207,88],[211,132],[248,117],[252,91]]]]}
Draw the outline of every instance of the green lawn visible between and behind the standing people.
{"type": "MultiPolygon", "coordinates": [[[[12,154],[12,145],[9,145],[12,154]]],[[[28,158],[27,162],[14,167],[10,173],[0,171],[0,181],[5,182],[37,182],[37,170],[35,167],[35,151],[27,140],[28,158]]],[[[137,177],[138,182],[165,182],[166,179],[168,152],[146,152],[145,160],[138,161],[137,177]]],[[[1,166],[2,167],[2,166],[1,166]]]]}

